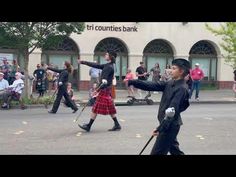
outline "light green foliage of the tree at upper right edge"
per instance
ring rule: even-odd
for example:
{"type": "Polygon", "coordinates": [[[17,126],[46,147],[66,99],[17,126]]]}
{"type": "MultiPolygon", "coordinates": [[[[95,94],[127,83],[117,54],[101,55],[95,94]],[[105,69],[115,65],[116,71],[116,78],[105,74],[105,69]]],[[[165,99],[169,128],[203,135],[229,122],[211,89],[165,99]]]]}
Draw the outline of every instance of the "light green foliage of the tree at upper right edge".
{"type": "Polygon", "coordinates": [[[218,29],[206,24],[206,28],[216,36],[222,36],[223,42],[220,43],[220,46],[226,51],[226,55],[223,57],[226,63],[236,69],[236,23],[222,23],[218,29]]]}

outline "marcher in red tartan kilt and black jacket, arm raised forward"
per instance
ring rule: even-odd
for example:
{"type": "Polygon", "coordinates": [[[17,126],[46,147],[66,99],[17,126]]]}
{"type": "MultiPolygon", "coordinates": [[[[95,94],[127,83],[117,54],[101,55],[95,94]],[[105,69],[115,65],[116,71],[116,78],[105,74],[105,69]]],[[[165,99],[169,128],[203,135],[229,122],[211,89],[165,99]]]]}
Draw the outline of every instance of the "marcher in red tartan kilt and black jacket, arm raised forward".
{"type": "MultiPolygon", "coordinates": [[[[109,129],[109,131],[116,131],[121,129],[121,126],[116,118],[116,108],[111,97],[112,79],[114,76],[113,64],[115,63],[116,56],[117,54],[114,51],[107,51],[107,53],[105,54],[105,60],[107,61],[107,63],[101,65],[97,63],[81,61],[80,59],[78,59],[78,64],[84,64],[102,70],[100,84],[103,84],[103,86],[101,86],[100,90],[97,93],[96,102],[92,108],[91,119],[88,124],[84,124],[82,126],[79,125],[80,128],[86,130],[87,132],[90,131],[91,126],[97,117],[97,114],[111,116],[114,121],[114,126],[109,129]]],[[[96,95],[96,93],[94,93],[94,95],[96,95]]]]}

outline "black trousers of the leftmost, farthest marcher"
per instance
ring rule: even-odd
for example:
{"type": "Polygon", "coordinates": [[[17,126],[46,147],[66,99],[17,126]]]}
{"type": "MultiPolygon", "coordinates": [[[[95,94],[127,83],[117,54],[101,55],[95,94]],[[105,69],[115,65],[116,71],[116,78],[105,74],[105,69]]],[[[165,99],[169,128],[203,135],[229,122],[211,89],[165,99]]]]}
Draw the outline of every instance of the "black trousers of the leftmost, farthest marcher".
{"type": "Polygon", "coordinates": [[[57,110],[60,106],[62,96],[64,96],[65,102],[67,103],[68,107],[71,107],[71,109],[73,109],[73,110],[78,109],[75,102],[73,102],[71,100],[70,96],[68,95],[67,90],[66,90],[66,86],[62,85],[58,88],[57,97],[56,97],[56,100],[54,101],[53,107],[52,107],[53,112],[57,112],[57,110]]]}

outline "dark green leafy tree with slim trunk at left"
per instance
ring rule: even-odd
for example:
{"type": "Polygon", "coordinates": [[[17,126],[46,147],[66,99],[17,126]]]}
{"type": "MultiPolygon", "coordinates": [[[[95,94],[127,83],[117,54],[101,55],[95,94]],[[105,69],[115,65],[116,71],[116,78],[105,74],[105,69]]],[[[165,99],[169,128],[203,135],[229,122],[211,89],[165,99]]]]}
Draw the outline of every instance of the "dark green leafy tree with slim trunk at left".
{"type": "Polygon", "coordinates": [[[24,56],[25,93],[28,92],[29,55],[36,49],[56,46],[71,33],[85,28],[79,22],[0,22],[0,46],[14,48],[24,56]]]}

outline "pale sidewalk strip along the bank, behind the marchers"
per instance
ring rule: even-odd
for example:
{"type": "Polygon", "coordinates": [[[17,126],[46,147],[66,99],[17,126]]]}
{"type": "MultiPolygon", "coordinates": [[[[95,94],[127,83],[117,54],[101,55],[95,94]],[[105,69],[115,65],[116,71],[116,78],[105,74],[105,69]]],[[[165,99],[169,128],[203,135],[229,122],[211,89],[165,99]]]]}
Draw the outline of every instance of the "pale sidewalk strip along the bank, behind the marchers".
{"type": "MultiPolygon", "coordinates": [[[[194,99],[195,91],[193,92],[191,103],[236,103],[236,98],[234,98],[234,93],[232,90],[200,90],[199,101],[194,99]]],[[[76,91],[74,93],[76,97],[76,102],[85,103],[88,101],[88,91],[76,91]]],[[[126,90],[116,90],[116,105],[127,105],[127,91],[126,90]]],[[[138,98],[137,93],[135,94],[138,98]]],[[[145,91],[143,91],[143,97],[145,96],[145,91]]],[[[154,104],[159,104],[161,100],[162,92],[152,93],[149,99],[154,101],[154,104]]],[[[144,102],[144,104],[146,104],[144,102]]],[[[136,105],[136,103],[134,103],[136,105]]]]}

